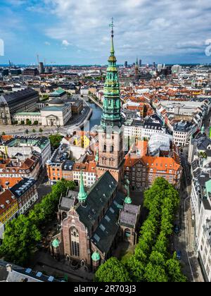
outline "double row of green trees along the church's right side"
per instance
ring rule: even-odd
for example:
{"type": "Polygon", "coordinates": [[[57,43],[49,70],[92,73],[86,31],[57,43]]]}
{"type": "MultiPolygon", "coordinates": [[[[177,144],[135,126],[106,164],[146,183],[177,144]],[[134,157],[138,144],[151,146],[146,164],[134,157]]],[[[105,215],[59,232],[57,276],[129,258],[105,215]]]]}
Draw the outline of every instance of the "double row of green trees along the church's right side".
{"type": "Polygon", "coordinates": [[[144,192],[144,205],[149,211],[143,223],[134,255],[124,261],[133,281],[185,281],[176,258],[170,259],[169,238],[174,214],[179,206],[179,193],[164,178],[157,178],[144,192]]]}

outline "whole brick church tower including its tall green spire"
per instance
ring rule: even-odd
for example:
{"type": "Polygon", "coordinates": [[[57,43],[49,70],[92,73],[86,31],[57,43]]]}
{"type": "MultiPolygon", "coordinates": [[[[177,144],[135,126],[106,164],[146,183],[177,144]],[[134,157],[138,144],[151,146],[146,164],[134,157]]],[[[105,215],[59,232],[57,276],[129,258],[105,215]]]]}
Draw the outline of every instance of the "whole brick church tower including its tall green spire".
{"type": "Polygon", "coordinates": [[[120,83],[113,42],[113,20],[111,27],[111,49],[104,87],[103,115],[101,126],[98,128],[98,152],[96,160],[98,178],[106,171],[110,171],[115,180],[120,183],[124,177],[124,151],[120,83]]]}

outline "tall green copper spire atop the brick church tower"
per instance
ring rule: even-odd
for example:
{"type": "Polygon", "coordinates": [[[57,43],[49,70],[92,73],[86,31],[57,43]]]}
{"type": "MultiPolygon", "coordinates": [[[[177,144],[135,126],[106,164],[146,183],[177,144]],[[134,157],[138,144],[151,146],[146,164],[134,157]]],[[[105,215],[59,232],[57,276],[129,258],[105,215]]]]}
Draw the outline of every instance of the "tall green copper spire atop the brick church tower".
{"type": "Polygon", "coordinates": [[[120,82],[117,73],[117,59],[115,58],[115,49],[113,43],[113,19],[110,25],[111,31],[111,49],[108,58],[108,68],[106,82],[104,87],[103,115],[101,118],[101,127],[107,128],[114,126],[121,127],[121,101],[120,101],[120,82]]]}

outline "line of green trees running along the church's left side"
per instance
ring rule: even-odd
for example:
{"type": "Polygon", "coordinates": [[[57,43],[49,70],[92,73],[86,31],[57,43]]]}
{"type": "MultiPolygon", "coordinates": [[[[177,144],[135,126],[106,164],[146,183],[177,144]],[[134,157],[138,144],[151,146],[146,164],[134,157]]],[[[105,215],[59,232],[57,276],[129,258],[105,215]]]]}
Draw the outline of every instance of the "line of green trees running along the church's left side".
{"type": "Polygon", "coordinates": [[[0,257],[7,261],[25,265],[33,254],[37,242],[41,240],[39,228],[46,219],[54,218],[61,195],[65,195],[68,188],[75,189],[72,181],[61,180],[53,185],[52,192],[46,195],[39,204],[34,206],[28,216],[18,216],[6,226],[3,245],[0,247],[0,257]]]}

